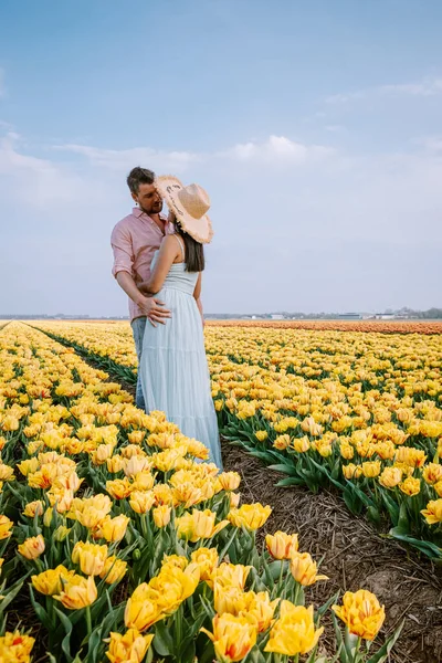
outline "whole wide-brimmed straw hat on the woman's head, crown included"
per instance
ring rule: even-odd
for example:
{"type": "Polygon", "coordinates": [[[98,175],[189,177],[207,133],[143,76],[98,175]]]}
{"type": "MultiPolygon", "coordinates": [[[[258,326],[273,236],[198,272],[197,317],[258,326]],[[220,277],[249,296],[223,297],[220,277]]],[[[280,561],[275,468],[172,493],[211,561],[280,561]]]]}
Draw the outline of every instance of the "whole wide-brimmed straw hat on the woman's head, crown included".
{"type": "Polygon", "coordinates": [[[182,230],[197,242],[208,244],[212,236],[212,223],[207,214],[210,198],[199,185],[185,187],[177,177],[161,175],[155,185],[166,200],[169,210],[175,212],[182,230]]]}

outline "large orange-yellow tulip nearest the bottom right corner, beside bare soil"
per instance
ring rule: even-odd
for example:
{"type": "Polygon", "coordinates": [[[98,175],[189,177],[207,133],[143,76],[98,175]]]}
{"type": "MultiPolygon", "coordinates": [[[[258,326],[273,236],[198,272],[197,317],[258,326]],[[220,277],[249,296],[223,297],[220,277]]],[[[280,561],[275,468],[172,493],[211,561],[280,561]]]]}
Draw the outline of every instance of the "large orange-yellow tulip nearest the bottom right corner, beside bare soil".
{"type": "Polygon", "coordinates": [[[343,598],[343,606],[333,606],[332,609],[350,633],[364,640],[375,640],[386,619],[383,606],[381,607],[376,596],[366,589],[347,591],[343,598]]]}

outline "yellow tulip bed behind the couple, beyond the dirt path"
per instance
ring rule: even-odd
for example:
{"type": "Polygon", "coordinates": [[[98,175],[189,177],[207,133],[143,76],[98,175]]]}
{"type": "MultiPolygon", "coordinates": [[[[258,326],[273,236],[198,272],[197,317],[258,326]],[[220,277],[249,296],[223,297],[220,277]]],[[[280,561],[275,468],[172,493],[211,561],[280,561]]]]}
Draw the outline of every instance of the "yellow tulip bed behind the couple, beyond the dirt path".
{"type": "MultiPolygon", "coordinates": [[[[40,326],[134,379],[126,323],[40,326]]],[[[334,486],[352,513],[442,558],[442,335],[224,325],[206,336],[232,443],[286,474],[280,485],[334,486]]]]}

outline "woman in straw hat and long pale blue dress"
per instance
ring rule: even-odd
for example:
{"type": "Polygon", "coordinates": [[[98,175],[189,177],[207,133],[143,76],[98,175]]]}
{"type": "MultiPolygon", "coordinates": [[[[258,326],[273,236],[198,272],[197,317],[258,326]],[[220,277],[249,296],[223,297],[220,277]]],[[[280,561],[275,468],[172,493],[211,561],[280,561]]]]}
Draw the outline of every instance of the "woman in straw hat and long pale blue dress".
{"type": "Polygon", "coordinates": [[[165,325],[146,325],[139,366],[146,411],[165,412],[185,435],[202,442],[211,462],[222,469],[200,304],[203,244],[213,234],[207,215],[210,201],[201,187],[183,187],[173,177],[159,177],[156,186],[176,234],[164,239],[149,281],[138,286],[158,294],[171,313],[165,325]]]}

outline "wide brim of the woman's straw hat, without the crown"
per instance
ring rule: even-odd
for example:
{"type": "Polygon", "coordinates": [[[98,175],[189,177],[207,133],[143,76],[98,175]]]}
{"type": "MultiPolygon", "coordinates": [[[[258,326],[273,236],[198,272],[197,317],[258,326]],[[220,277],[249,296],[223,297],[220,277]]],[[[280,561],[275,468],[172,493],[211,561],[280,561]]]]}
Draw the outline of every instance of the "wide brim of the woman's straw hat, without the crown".
{"type": "Polygon", "coordinates": [[[172,175],[161,175],[156,178],[155,186],[161,197],[166,200],[167,207],[177,217],[182,230],[200,244],[209,244],[213,238],[212,222],[208,214],[200,219],[194,219],[182,207],[177,193],[183,189],[182,182],[172,175]]]}

